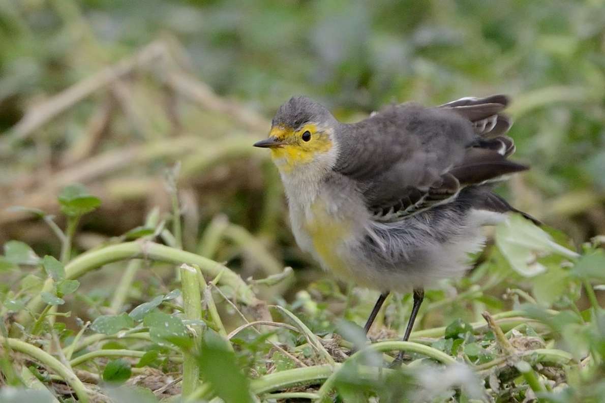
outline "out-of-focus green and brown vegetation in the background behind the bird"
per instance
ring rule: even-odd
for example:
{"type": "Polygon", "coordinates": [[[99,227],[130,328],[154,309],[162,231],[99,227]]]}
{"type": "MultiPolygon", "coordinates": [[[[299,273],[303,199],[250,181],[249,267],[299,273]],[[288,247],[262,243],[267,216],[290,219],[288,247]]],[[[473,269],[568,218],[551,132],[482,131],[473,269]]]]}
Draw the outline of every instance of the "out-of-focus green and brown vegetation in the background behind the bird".
{"type": "Polygon", "coordinates": [[[165,172],[180,162],[186,249],[223,213],[312,266],[250,146],[280,103],[306,94],[355,120],[492,93],[513,97],[516,158],[532,165],[499,191],[577,244],[605,233],[602,0],[4,0],[0,243],[56,252],[44,224],[7,208],[57,212],[73,182],[103,201],[76,247],[123,234],[169,211],[165,172]]]}

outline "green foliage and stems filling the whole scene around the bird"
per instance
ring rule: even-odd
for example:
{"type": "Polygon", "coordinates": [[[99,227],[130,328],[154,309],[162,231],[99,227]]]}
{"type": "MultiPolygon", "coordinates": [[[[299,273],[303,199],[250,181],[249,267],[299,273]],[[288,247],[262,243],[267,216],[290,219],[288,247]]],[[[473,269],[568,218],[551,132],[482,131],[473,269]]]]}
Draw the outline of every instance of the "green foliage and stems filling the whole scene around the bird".
{"type": "MultiPolygon", "coordinates": [[[[2,386],[1,402],[74,402],[65,378],[87,373],[109,382],[87,387],[91,401],[178,401],[182,382],[170,383],[193,361],[195,401],[605,403],[605,254],[602,237],[587,242],[605,228],[602,1],[142,5],[0,6],[0,380],[21,387],[21,367],[35,362],[43,388],[2,386]],[[152,50],[166,53],[135,55],[158,38],[152,50]],[[79,92],[124,58],[134,70],[79,92]],[[194,85],[174,85],[189,76],[194,85]],[[391,102],[497,92],[512,95],[515,158],[532,165],[497,191],[563,232],[520,216],[499,226],[467,277],[427,290],[407,370],[384,368],[396,352],[348,358],[352,342],[365,346],[361,325],[377,295],[319,274],[293,247],[278,174],[249,146],[266,134],[264,117],[300,93],[354,121],[391,102]],[[160,172],[176,161],[162,200],[160,172]],[[60,190],[67,180],[87,183],[103,206],[82,185],[60,190]],[[173,211],[143,221],[142,206],[155,205],[173,211]],[[250,244],[229,235],[229,221],[250,244]],[[136,259],[122,249],[130,240],[141,245],[136,259]],[[153,242],[170,247],[149,254],[153,242]],[[117,248],[97,260],[103,245],[117,248]],[[174,279],[195,252],[229,268],[202,270],[217,278],[200,290],[201,319],[188,318],[174,279]],[[280,273],[286,265],[294,270],[280,273]],[[246,283],[281,309],[243,301],[246,283]],[[209,312],[213,298],[226,329],[209,312]],[[244,325],[240,313],[290,327],[256,324],[229,340],[215,332],[244,325]],[[28,356],[39,352],[71,369],[59,375],[56,363],[28,356]],[[460,365],[445,367],[437,353],[460,365]],[[138,386],[119,385],[126,380],[138,386]]],[[[401,335],[410,309],[410,297],[390,297],[372,341],[401,335]]]]}

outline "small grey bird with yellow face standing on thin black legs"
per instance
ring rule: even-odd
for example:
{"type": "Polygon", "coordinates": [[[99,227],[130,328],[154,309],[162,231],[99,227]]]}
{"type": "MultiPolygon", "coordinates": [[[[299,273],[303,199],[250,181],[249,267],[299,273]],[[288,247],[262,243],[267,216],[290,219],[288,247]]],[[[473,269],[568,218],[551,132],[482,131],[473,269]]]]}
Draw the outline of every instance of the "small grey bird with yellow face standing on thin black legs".
{"type": "Polygon", "coordinates": [[[407,341],[425,288],[465,273],[485,244],[483,226],[509,212],[539,224],[492,191],[528,169],[508,159],[508,104],[503,94],[405,102],[342,123],[295,96],[254,144],[270,149],[280,172],[298,246],[337,278],[380,292],[366,335],[389,293],[412,292],[407,341]]]}

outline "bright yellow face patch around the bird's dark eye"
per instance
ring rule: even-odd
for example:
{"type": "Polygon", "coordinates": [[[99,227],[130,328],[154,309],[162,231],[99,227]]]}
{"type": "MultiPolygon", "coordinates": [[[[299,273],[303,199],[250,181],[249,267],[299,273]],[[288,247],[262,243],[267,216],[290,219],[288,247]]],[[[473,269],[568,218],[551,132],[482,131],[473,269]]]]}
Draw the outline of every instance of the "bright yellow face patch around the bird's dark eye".
{"type": "Polygon", "coordinates": [[[319,131],[314,123],[307,123],[297,130],[274,126],[270,133],[271,157],[286,172],[312,162],[318,154],[332,149],[329,131],[319,131]]]}

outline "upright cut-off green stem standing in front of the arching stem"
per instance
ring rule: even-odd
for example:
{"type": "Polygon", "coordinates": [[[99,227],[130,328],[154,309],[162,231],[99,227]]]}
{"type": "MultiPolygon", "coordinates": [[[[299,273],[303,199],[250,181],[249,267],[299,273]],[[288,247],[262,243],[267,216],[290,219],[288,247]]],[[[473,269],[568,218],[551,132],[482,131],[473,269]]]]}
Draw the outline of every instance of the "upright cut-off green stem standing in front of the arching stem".
{"type": "MultiPolygon", "coordinates": [[[[200,283],[195,267],[182,264],[181,292],[183,293],[183,308],[185,317],[192,321],[201,320],[200,283]]],[[[194,351],[183,351],[183,397],[187,398],[197,388],[200,380],[200,369],[197,365],[198,346],[200,344],[201,327],[194,326],[194,351]]]]}

